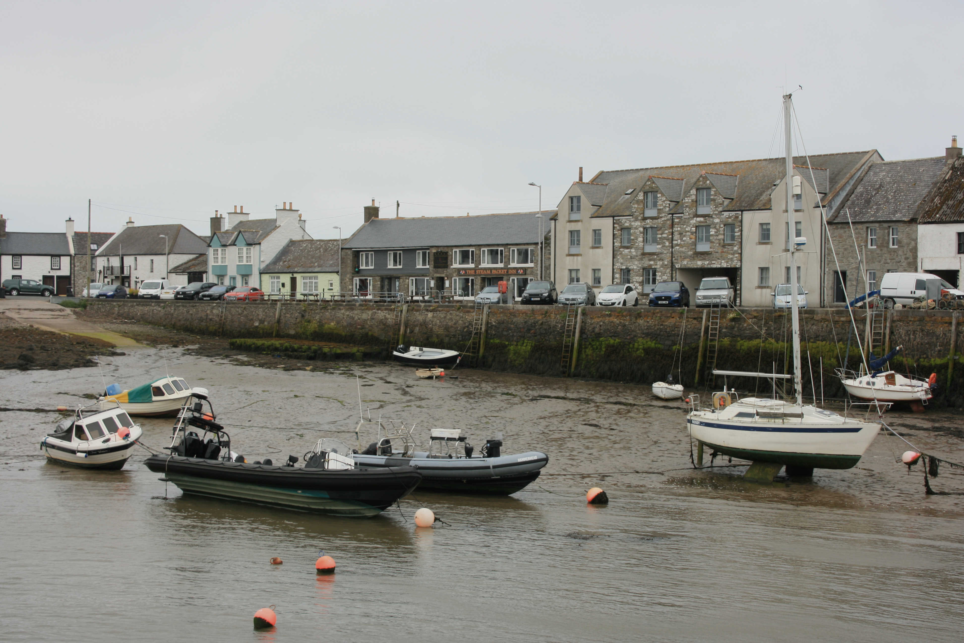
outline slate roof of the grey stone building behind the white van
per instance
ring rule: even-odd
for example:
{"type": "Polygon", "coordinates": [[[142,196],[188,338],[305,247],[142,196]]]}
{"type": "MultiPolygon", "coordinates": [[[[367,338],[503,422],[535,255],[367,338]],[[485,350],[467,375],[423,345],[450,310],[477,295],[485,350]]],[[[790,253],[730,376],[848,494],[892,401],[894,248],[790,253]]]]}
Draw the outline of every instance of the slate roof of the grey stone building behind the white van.
{"type": "Polygon", "coordinates": [[[943,156],[874,163],[829,221],[911,221],[945,165],[943,156]]]}

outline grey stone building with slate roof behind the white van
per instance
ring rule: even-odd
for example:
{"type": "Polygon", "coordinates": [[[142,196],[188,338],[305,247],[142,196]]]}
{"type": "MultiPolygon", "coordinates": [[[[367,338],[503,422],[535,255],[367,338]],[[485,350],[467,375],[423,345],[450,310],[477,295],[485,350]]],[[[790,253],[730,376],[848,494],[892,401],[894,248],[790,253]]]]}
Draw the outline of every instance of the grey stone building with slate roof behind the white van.
{"type": "Polygon", "coordinates": [[[917,271],[919,210],[945,165],[936,156],[874,163],[861,172],[827,219],[833,242],[824,261],[827,306],[876,290],[885,273],[917,271]]]}

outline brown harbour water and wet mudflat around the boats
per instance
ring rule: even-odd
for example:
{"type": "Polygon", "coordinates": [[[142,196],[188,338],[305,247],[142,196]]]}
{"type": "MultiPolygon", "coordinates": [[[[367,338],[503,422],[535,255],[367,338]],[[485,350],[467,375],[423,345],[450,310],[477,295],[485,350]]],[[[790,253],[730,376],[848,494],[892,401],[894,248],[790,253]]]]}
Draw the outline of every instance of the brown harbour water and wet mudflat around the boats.
{"type": "MultiPolygon", "coordinates": [[[[374,519],[181,496],[148,471],[84,471],[37,457],[58,415],[0,413],[5,641],[931,641],[964,632],[964,496],[924,496],[920,466],[880,435],[855,469],[752,485],[694,471],[680,402],[648,388],[462,370],[443,382],[395,364],[282,371],[140,349],[107,383],[167,367],[209,388],[235,451],[299,457],[354,441],[373,416],[459,427],[549,466],[511,497],[415,492],[374,519]],[[360,379],[357,381],[356,376],[360,379]],[[357,386],[361,383],[361,388],[357,386]],[[340,432],[340,433],[336,433],[340,432]],[[601,486],[608,506],[584,493],[601,486]],[[420,506],[445,522],[415,528],[420,506]],[[320,549],[334,576],[315,576],[320,549]],[[280,556],[283,565],[268,563],[280,556]],[[254,631],[277,605],[275,630],[254,631]]],[[[51,409],[103,388],[96,369],[4,371],[0,407],[51,409]]],[[[909,438],[964,460],[960,420],[892,415],[909,438]],[[928,430],[931,429],[931,430],[928,430]],[[950,430],[949,430],[950,429],[950,430]]],[[[170,418],[144,419],[167,444],[170,418]]],[[[362,436],[362,442],[367,443],[362,436]]],[[[716,464],[726,465],[724,461],[716,464]]],[[[964,491],[943,471],[935,488],[964,491]]]]}

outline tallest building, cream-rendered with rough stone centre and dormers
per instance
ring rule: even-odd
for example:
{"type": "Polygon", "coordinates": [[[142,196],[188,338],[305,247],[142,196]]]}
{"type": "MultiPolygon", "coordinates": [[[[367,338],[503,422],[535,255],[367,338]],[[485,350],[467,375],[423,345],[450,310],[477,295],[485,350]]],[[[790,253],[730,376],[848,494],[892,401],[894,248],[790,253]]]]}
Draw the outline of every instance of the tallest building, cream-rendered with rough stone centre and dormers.
{"type": "MultiPolygon", "coordinates": [[[[805,237],[799,274],[820,291],[824,210],[856,176],[883,160],[876,150],[794,159],[794,237],[805,237]]],[[[742,306],[769,306],[789,279],[783,158],[603,171],[573,183],[553,218],[555,281],[594,287],[658,281],[694,290],[704,277],[728,277],[742,306]],[[568,250],[568,252],[563,252],[568,250]]]]}

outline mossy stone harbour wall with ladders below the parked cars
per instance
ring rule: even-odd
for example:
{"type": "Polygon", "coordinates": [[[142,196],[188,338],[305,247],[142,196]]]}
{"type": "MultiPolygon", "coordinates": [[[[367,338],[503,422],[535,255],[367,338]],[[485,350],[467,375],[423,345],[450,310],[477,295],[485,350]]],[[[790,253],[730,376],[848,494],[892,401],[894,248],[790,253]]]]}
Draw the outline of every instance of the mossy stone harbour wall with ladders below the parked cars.
{"type": "MultiPolygon", "coordinates": [[[[80,311],[78,311],[80,312],[80,311]]],[[[578,316],[576,377],[620,382],[674,381],[687,390],[707,385],[710,351],[706,309],[582,308],[578,316]]],[[[362,303],[106,301],[90,302],[85,316],[134,320],[195,335],[279,337],[335,341],[361,346],[406,344],[464,351],[472,335],[474,308],[460,305],[408,304],[404,307],[362,303]]],[[[855,310],[856,326],[866,336],[866,317],[855,310]]],[[[964,366],[958,364],[964,315],[947,310],[890,310],[884,343],[904,347],[891,362],[899,373],[926,379],[937,373],[939,406],[964,406],[964,366]]],[[[479,367],[500,371],[564,375],[561,363],[566,308],[492,306],[484,313],[479,367]]],[[[808,395],[844,397],[834,368],[847,356],[850,318],[839,308],[800,311],[804,388],[808,395]],[[823,377],[820,377],[822,364],[823,377]],[[813,373],[813,380],[811,379],[813,373]]],[[[723,309],[719,322],[716,367],[725,370],[787,372],[790,312],[765,308],[723,309]]],[[[847,366],[856,369],[860,350],[850,333],[847,366]]],[[[717,382],[717,386],[721,382],[717,382]]],[[[763,380],[730,378],[730,386],[769,392],[763,380]],[[760,388],[758,388],[760,387],[760,388]]]]}

